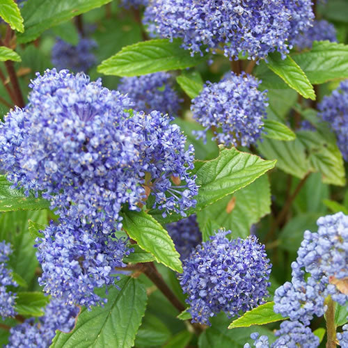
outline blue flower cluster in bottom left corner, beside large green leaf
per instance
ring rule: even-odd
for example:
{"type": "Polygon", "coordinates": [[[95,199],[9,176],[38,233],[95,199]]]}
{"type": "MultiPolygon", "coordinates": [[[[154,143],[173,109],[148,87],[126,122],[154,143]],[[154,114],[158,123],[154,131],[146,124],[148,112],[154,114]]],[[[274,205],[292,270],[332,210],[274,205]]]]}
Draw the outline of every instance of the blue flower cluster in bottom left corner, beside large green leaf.
{"type": "Polygon", "coordinates": [[[47,348],[56,335],[56,330],[69,332],[74,327],[79,308],[67,306],[59,299],[52,299],[45,308],[45,315],[35,321],[26,319],[10,329],[5,348],[47,348]]]}

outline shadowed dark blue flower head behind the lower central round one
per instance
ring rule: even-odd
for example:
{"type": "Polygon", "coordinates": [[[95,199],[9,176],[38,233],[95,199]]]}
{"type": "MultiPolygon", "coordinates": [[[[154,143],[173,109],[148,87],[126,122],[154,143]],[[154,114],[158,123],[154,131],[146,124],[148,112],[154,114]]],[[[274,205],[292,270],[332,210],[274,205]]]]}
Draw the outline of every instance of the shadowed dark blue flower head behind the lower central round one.
{"type": "Polygon", "coordinates": [[[175,248],[180,253],[181,260],[186,259],[192,249],[202,242],[202,233],[198,228],[196,215],[190,215],[186,219],[168,223],[166,229],[173,239],[175,248]]]}

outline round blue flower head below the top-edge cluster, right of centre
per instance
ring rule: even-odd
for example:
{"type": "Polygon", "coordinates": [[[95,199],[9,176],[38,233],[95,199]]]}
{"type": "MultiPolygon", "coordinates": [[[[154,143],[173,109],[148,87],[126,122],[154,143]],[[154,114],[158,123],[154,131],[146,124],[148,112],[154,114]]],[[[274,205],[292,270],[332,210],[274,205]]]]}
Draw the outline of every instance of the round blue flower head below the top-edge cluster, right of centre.
{"type": "Polygon", "coordinates": [[[255,143],[262,133],[268,105],[267,91],[258,90],[259,84],[258,79],[244,72],[230,72],[218,83],[208,81],[192,100],[193,118],[205,127],[195,134],[205,140],[207,130],[215,127],[214,139],[221,144],[255,143]]]}

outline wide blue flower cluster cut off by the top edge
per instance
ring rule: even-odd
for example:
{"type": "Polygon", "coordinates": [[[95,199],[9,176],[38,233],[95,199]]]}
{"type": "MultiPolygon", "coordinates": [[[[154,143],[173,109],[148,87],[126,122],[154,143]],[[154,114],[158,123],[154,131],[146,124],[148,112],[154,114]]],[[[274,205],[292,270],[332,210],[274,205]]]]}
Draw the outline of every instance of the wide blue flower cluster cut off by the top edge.
{"type": "Polygon", "coordinates": [[[241,52],[259,59],[275,50],[289,52],[292,40],[311,25],[311,5],[310,0],[153,0],[144,24],[164,38],[182,38],[192,54],[223,44],[230,59],[241,52]]]}

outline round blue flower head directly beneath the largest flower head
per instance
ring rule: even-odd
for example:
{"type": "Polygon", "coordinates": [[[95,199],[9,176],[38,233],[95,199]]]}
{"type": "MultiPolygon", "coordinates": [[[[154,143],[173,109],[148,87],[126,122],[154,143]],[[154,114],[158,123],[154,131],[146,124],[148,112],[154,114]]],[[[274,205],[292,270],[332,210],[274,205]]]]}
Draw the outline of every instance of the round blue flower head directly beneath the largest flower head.
{"type": "Polygon", "coordinates": [[[124,267],[122,258],[132,251],[127,241],[71,219],[58,226],[51,223],[43,234],[36,246],[44,291],[69,305],[90,308],[106,301],[94,290],[119,279],[115,268],[124,267]]]}

